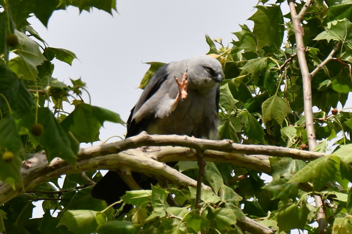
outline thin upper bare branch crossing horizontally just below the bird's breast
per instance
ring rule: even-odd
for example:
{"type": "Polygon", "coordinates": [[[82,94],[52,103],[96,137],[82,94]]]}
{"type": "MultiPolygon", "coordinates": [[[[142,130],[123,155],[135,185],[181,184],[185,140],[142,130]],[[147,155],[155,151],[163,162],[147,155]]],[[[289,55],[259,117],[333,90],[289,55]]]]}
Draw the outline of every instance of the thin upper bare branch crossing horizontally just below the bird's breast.
{"type": "MultiPolygon", "coordinates": [[[[109,154],[125,151],[126,149],[133,149],[133,148],[138,148],[143,146],[181,146],[181,147],[187,147],[191,149],[199,148],[200,150],[208,150],[206,151],[207,155],[210,156],[209,154],[211,154],[212,157],[216,157],[216,154],[219,154],[219,152],[233,153],[237,156],[232,155],[232,156],[229,156],[230,158],[228,159],[233,159],[235,161],[238,161],[238,160],[241,161],[240,158],[243,155],[267,155],[267,156],[288,157],[293,159],[301,159],[301,160],[309,160],[309,161],[317,158],[321,158],[327,155],[324,153],[302,151],[299,149],[291,149],[291,148],[278,147],[278,146],[242,145],[238,143],[233,143],[230,140],[214,141],[214,140],[197,139],[189,136],[179,136],[179,135],[148,135],[146,132],[142,132],[137,136],[134,136],[132,138],[127,138],[122,141],[83,149],[78,153],[78,158],[84,159],[84,158],[91,158],[93,156],[109,155],[109,154]],[[213,151],[219,151],[219,152],[214,153],[213,151]]],[[[146,150],[144,151],[148,153],[148,151],[146,150]]],[[[193,152],[193,154],[191,155],[195,156],[195,152],[193,152]]],[[[223,155],[223,153],[221,155],[223,155]]],[[[174,158],[170,158],[171,156],[173,155],[163,155],[163,156],[158,155],[158,157],[160,158],[157,160],[162,162],[185,160],[185,158],[182,158],[182,160],[179,159],[178,158],[179,156],[177,156],[175,160],[174,158]]],[[[225,158],[227,158],[226,155],[224,156],[225,158]]],[[[221,156],[220,158],[224,160],[224,157],[221,156]]],[[[248,157],[245,156],[245,158],[246,158],[245,163],[247,163],[246,160],[248,159],[248,157]]],[[[214,161],[214,159],[213,160],[205,159],[205,160],[214,161]]],[[[186,159],[186,161],[188,160],[186,159]]],[[[235,163],[236,163],[236,166],[240,166],[238,162],[235,162],[235,163]]],[[[259,171],[263,171],[263,169],[259,169],[259,171]]]]}

